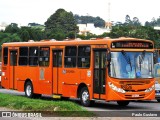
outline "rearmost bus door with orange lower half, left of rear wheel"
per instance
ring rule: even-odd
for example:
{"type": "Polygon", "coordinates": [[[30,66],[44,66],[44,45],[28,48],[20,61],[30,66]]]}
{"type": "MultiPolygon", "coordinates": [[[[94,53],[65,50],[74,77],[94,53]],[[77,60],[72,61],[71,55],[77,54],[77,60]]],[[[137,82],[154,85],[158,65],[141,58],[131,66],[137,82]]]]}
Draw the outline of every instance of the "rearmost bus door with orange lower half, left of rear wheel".
{"type": "MultiPolygon", "coordinates": [[[[10,89],[16,89],[16,69],[17,66],[17,50],[11,50],[10,51],[10,67],[9,67],[9,88],[10,89]]],[[[17,73],[18,74],[18,73],[17,73]]]]}

